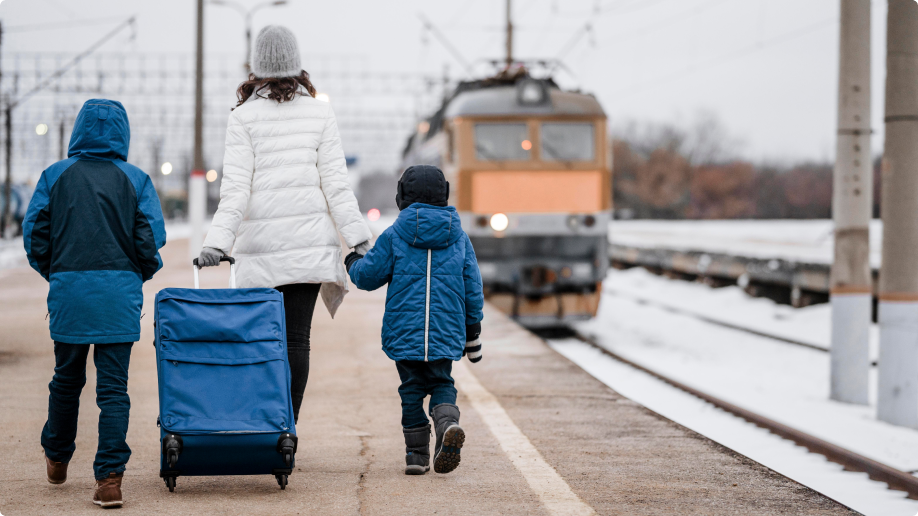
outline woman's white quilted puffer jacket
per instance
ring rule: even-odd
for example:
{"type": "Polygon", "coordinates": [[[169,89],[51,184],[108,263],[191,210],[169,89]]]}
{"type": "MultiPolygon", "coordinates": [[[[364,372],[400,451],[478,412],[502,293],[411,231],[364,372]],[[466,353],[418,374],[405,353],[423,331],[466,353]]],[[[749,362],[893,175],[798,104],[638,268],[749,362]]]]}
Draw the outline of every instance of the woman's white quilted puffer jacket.
{"type": "Polygon", "coordinates": [[[349,247],[371,237],[331,105],[253,95],[229,117],[220,205],[204,247],[232,251],[239,287],[321,283],[334,316],[347,293],[336,226],[349,247]]]}

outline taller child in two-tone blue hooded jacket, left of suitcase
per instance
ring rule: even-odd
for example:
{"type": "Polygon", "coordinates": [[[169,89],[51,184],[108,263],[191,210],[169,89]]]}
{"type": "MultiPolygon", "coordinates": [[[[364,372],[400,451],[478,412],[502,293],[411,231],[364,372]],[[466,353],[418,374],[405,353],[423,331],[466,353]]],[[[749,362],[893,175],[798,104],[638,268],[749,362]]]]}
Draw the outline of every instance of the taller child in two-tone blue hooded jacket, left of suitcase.
{"type": "Polygon", "coordinates": [[[166,243],[156,189],[126,161],[130,141],[120,102],[87,101],[68,158],[42,172],[22,224],[29,264],[50,283],[55,367],[41,434],[48,482],[67,480],[92,345],[100,408],[93,503],[102,507],[123,502],[131,347],[140,340],[143,283],[163,266],[166,243]]]}

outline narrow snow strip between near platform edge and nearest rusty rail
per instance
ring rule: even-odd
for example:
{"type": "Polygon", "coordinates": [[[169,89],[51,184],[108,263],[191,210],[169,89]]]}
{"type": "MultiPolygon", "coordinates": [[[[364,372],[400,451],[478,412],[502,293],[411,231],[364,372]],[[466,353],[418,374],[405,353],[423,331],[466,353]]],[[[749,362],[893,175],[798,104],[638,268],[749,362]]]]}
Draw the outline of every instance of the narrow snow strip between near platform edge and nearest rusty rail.
{"type": "Polygon", "coordinates": [[[866,473],[844,471],[822,455],[809,453],[791,441],[622,364],[592,346],[574,339],[549,343],[631,400],[867,516],[918,513],[918,501],[909,500],[904,492],[887,489],[886,484],[870,480],[866,473]]]}

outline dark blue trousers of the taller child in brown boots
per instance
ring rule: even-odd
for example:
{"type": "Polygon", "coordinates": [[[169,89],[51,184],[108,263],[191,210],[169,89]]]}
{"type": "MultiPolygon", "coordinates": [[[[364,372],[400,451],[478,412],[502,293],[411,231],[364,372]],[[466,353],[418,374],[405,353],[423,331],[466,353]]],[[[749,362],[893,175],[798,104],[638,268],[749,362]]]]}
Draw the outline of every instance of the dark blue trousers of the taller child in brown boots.
{"type": "MultiPolygon", "coordinates": [[[[99,406],[99,445],[93,471],[96,480],[123,473],[131,456],[127,427],[131,400],[127,394],[128,366],[133,342],[93,345],[96,365],[96,405],[99,406]]],[[[48,385],[48,422],[41,432],[45,455],[54,462],[70,462],[80,412],[80,392],[86,385],[88,344],[54,343],[54,378],[48,385]]]]}

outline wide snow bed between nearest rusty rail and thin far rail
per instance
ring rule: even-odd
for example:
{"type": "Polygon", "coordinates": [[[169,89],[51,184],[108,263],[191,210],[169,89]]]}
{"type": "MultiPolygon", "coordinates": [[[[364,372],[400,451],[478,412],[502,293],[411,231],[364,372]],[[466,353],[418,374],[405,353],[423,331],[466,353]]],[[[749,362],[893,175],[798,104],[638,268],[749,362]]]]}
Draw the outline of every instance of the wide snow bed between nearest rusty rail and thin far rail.
{"type": "MultiPolygon", "coordinates": [[[[639,270],[613,270],[604,287],[614,291],[642,275],[639,270]]],[[[653,295],[660,297],[670,288],[684,286],[676,281],[645,285],[645,294],[657,290],[653,295]]],[[[762,300],[735,297],[732,303],[737,313],[748,308],[750,319],[750,314],[767,310],[762,300]]],[[[695,310],[706,315],[717,315],[722,309],[701,295],[695,304],[695,310]]],[[[823,316],[826,325],[827,315],[823,316]]],[[[828,399],[828,353],[724,328],[654,304],[605,294],[597,317],[579,323],[577,329],[608,349],[703,392],[903,471],[918,470],[918,431],[876,419],[875,368],[871,406],[863,407],[828,399]]]]}

